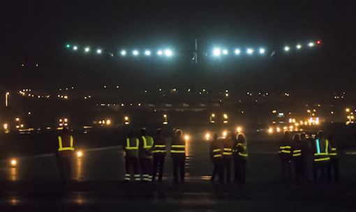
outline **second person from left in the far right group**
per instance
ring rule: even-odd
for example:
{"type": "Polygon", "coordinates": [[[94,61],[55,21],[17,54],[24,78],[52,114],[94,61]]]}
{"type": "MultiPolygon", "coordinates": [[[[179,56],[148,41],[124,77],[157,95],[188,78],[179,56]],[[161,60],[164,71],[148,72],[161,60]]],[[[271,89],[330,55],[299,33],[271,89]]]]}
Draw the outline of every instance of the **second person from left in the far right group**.
{"type": "Polygon", "coordinates": [[[299,134],[295,134],[292,139],[292,162],[294,165],[294,181],[302,182],[303,166],[302,166],[302,141],[299,134]]]}

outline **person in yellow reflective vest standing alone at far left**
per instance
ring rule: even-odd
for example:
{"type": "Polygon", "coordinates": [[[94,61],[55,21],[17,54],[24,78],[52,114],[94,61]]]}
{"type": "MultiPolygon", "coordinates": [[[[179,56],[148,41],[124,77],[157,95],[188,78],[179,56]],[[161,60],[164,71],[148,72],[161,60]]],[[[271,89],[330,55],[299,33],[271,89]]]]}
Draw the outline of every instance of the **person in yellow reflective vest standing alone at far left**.
{"type": "Polygon", "coordinates": [[[61,134],[58,135],[57,140],[57,165],[61,174],[61,183],[62,185],[66,185],[66,183],[71,179],[74,139],[73,136],[69,134],[68,128],[63,128],[61,134]]]}

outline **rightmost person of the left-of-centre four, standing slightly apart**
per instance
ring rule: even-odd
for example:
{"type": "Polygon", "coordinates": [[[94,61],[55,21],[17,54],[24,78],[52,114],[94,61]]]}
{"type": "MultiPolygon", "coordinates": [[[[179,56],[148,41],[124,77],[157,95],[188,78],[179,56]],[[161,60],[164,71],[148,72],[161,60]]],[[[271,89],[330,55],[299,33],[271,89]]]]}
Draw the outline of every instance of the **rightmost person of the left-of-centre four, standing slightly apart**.
{"type": "Polygon", "coordinates": [[[175,137],[172,139],[170,156],[172,157],[173,179],[175,183],[178,182],[178,171],[181,182],[184,182],[186,165],[186,141],[183,138],[183,132],[181,130],[177,130],[175,132],[175,137]]]}

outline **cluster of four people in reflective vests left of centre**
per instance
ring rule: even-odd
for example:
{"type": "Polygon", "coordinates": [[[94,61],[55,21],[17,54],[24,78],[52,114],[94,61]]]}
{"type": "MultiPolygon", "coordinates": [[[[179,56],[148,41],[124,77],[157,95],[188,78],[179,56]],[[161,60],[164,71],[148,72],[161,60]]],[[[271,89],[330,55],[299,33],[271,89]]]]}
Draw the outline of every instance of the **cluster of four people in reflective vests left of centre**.
{"type": "MultiPolygon", "coordinates": [[[[163,178],[163,166],[165,163],[166,142],[162,135],[162,130],[158,129],[156,135],[147,135],[145,128],[141,128],[139,137],[135,137],[135,132],[131,131],[124,142],[125,156],[125,181],[158,181],[163,178]],[[133,177],[131,175],[133,169],[133,177]]],[[[175,131],[170,148],[173,178],[184,182],[185,160],[186,160],[186,141],[181,130],[175,131]]]]}

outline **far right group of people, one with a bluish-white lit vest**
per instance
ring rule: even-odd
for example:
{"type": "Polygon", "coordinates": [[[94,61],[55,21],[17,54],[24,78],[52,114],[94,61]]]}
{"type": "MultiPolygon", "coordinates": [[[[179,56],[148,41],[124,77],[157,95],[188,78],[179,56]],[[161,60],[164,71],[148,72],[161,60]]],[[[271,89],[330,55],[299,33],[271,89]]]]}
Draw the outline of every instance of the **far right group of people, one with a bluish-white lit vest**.
{"type": "Polygon", "coordinates": [[[332,135],[325,137],[321,130],[315,137],[303,132],[290,137],[285,131],[280,141],[279,156],[283,181],[339,181],[339,158],[332,135]]]}

